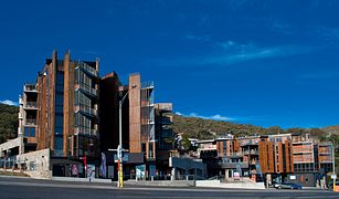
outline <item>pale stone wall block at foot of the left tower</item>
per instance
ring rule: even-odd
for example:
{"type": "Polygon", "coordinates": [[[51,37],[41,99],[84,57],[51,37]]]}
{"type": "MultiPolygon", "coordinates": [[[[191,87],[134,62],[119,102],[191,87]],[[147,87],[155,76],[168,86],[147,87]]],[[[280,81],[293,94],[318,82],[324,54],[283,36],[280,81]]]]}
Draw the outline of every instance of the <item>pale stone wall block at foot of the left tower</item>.
{"type": "Polygon", "coordinates": [[[23,172],[32,178],[51,179],[50,149],[36,150],[17,156],[18,165],[25,166],[23,172]]]}

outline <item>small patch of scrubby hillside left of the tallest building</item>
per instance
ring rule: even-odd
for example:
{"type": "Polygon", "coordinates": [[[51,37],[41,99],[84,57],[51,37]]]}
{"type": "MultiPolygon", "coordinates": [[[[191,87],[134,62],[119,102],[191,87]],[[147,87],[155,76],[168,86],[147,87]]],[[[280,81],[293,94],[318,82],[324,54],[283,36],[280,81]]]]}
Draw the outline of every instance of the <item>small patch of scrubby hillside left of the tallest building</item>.
{"type": "Polygon", "coordinates": [[[17,137],[19,107],[0,103],[0,144],[17,137]]]}

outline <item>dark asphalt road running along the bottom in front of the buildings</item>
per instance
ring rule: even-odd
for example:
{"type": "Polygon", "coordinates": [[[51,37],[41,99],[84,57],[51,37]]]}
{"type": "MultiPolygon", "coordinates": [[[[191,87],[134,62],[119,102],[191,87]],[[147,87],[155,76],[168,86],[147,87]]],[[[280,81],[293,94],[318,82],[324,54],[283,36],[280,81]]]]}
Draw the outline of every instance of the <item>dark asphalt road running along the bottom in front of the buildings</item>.
{"type": "Polygon", "coordinates": [[[159,188],[159,187],[124,187],[115,184],[64,182],[35,180],[30,178],[0,177],[0,199],[221,199],[221,198],[339,198],[339,193],[328,190],[234,190],[204,188],[159,188]]]}

